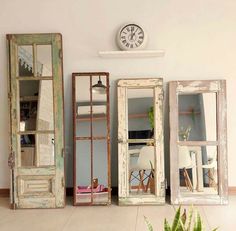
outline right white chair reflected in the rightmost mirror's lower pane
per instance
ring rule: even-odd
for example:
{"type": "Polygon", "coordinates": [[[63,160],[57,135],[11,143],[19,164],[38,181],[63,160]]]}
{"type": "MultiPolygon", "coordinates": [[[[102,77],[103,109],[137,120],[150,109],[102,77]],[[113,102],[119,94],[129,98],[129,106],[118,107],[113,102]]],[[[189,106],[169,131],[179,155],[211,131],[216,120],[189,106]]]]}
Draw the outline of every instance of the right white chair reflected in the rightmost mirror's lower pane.
{"type": "MultiPolygon", "coordinates": [[[[208,156],[209,157],[209,156],[208,156]]],[[[208,164],[202,165],[203,169],[207,169],[207,176],[209,178],[209,187],[217,187],[217,154],[213,153],[212,156],[208,158],[208,164]]]]}

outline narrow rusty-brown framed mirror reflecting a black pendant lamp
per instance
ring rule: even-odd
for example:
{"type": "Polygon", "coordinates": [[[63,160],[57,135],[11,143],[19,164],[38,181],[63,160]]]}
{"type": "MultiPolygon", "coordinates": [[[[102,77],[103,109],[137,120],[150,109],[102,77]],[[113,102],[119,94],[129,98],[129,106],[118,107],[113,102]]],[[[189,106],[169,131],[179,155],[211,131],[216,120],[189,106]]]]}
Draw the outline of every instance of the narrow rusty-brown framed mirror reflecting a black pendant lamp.
{"type": "Polygon", "coordinates": [[[74,205],[110,204],[109,74],[72,77],[74,205]]]}

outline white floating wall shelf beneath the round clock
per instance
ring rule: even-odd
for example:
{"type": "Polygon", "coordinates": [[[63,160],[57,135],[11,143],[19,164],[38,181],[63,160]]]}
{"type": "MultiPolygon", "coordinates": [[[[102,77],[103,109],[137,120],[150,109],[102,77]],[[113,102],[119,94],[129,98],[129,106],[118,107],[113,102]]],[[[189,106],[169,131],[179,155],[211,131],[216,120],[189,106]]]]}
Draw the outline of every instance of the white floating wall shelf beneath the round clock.
{"type": "Polygon", "coordinates": [[[164,50],[135,50],[135,51],[99,51],[102,58],[148,58],[163,57],[164,50]]]}

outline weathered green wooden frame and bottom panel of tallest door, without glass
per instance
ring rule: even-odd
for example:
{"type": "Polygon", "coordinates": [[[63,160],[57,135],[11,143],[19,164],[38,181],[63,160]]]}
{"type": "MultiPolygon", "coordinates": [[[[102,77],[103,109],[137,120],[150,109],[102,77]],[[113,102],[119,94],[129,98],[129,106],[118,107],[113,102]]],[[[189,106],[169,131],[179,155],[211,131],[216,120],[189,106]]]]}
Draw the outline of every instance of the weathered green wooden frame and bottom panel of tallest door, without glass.
{"type": "MultiPolygon", "coordinates": [[[[9,34],[7,35],[9,54],[9,109],[10,109],[10,151],[15,165],[11,170],[11,204],[13,208],[59,208],[65,206],[64,185],[64,97],[62,73],[62,37],[60,34],[9,34]],[[52,75],[19,77],[18,46],[31,45],[33,48],[33,70],[36,63],[36,46],[51,45],[52,75]],[[54,130],[21,132],[20,121],[20,81],[52,80],[54,130]],[[35,166],[21,166],[21,135],[54,135],[54,162],[52,166],[39,166],[36,151],[35,166]]],[[[37,145],[37,141],[36,141],[37,145]]],[[[37,147],[36,147],[37,149],[37,147]]]]}

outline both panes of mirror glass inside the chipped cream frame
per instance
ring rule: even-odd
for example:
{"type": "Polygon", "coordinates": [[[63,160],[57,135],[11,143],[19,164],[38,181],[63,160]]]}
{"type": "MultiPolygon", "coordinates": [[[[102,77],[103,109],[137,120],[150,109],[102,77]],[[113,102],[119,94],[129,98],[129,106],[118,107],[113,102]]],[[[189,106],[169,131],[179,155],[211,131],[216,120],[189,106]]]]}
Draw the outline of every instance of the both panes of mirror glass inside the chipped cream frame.
{"type": "Polygon", "coordinates": [[[153,89],[128,89],[127,97],[129,193],[155,194],[153,89]]]}

